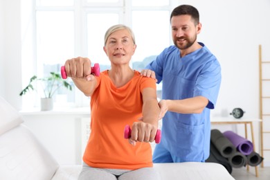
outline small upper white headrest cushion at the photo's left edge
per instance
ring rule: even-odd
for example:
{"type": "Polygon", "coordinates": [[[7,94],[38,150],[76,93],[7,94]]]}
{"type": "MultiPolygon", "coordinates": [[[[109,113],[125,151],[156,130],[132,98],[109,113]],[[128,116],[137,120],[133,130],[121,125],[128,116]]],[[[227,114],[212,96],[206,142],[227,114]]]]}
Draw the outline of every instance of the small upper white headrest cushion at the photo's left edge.
{"type": "Polygon", "coordinates": [[[0,97],[0,135],[24,122],[19,112],[0,97]]]}

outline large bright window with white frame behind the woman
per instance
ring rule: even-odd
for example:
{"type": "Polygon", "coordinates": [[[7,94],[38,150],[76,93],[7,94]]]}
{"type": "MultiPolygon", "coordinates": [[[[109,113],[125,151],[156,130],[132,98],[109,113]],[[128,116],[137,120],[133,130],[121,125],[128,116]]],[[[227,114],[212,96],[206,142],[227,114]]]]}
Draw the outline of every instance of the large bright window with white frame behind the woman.
{"type": "MultiPolygon", "coordinates": [[[[30,40],[23,39],[22,50],[27,52],[22,53],[23,64],[32,64],[23,66],[22,73],[29,75],[23,75],[23,84],[33,75],[29,72],[43,77],[51,71],[60,72],[60,66],[72,57],[89,57],[100,64],[101,71],[109,69],[103,41],[105,31],[114,24],[125,24],[134,30],[137,49],[131,65],[138,71],[171,44],[172,0],[33,0],[33,4],[22,6],[33,6],[32,18],[22,16],[26,26],[23,36],[30,36],[30,40]]],[[[89,105],[89,98],[78,89],[57,94],[57,104],[89,105]]],[[[23,98],[23,105],[36,102],[23,98]]]]}

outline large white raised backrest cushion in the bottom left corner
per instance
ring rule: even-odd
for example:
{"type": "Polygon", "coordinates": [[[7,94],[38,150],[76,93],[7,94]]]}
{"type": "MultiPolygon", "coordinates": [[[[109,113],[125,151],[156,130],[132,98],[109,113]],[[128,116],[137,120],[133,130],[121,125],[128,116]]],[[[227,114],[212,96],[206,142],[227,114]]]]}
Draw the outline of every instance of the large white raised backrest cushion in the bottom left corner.
{"type": "Polygon", "coordinates": [[[0,179],[48,180],[58,163],[24,125],[0,136],[0,179]]]}

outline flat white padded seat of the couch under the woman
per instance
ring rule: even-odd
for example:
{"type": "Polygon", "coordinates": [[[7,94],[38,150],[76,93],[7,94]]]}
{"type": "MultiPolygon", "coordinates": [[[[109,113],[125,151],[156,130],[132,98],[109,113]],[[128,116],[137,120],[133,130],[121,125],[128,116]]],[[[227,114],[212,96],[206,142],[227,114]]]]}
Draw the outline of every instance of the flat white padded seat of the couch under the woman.
{"type": "MultiPolygon", "coordinates": [[[[154,168],[165,180],[233,180],[223,165],[218,163],[155,163],[154,168]]],[[[77,180],[81,166],[60,165],[52,180],[77,180]]]]}

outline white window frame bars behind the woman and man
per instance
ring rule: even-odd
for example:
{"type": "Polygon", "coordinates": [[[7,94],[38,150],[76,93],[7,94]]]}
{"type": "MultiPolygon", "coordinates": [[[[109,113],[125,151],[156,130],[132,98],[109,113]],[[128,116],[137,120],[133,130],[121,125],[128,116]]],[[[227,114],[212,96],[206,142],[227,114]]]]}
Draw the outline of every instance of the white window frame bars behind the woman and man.
{"type": "MultiPolygon", "coordinates": [[[[39,69],[39,63],[37,62],[37,44],[36,42],[36,21],[35,21],[35,15],[37,10],[73,10],[74,11],[74,24],[75,24],[75,57],[77,56],[84,56],[87,57],[87,13],[91,12],[119,12],[120,17],[120,23],[126,24],[127,26],[132,28],[132,22],[130,19],[132,19],[132,11],[133,10],[169,10],[170,12],[172,9],[176,6],[178,6],[179,1],[176,0],[170,0],[169,6],[145,6],[145,7],[132,7],[132,0],[119,0],[118,3],[87,3],[87,0],[74,0],[74,6],[57,6],[57,7],[51,7],[51,6],[35,6],[35,0],[33,1],[33,12],[32,12],[32,19],[30,19],[30,23],[33,26],[33,29],[30,31],[33,31],[33,40],[30,40],[30,43],[32,43],[32,51],[33,54],[31,57],[26,57],[23,54],[22,57],[22,64],[32,64],[31,66],[28,66],[28,69],[26,70],[26,66],[23,66],[22,69],[22,84],[27,84],[30,77],[33,76],[33,74],[37,74],[37,71],[39,69]]],[[[135,0],[136,1],[136,0],[135,0]]],[[[168,18],[169,21],[169,18],[168,18]]],[[[168,27],[169,28],[169,27],[168,27]]],[[[171,35],[170,35],[171,37],[171,35]]],[[[170,42],[172,43],[172,40],[170,38],[170,42]]],[[[24,46],[24,45],[23,45],[24,46]]],[[[25,49],[27,47],[22,47],[22,49],[25,49]]],[[[165,48],[165,47],[164,47],[165,48]]],[[[23,98],[23,105],[24,101],[27,101],[26,98],[23,98]]],[[[36,106],[37,102],[35,102],[36,106]]],[[[75,88],[75,107],[84,107],[89,106],[89,99],[85,98],[85,96],[75,88]]]]}

